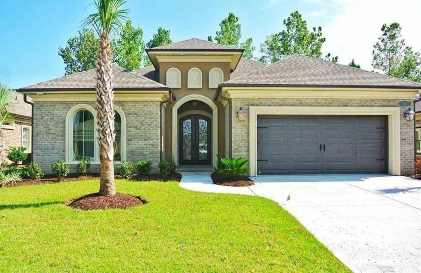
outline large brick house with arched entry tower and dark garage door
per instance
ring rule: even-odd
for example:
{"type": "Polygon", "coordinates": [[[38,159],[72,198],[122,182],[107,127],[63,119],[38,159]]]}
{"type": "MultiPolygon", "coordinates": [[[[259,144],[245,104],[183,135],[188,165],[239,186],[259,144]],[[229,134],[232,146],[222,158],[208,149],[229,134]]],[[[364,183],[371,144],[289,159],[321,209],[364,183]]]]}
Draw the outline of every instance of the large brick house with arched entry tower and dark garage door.
{"type": "MultiPolygon", "coordinates": [[[[271,65],[189,39],[146,50],[153,66],[114,66],[115,160],[213,165],[245,157],[250,175],[414,172],[421,84],[292,55],[271,65]]],[[[34,100],[34,160],[98,166],[95,70],[19,90],[34,100]]]]}

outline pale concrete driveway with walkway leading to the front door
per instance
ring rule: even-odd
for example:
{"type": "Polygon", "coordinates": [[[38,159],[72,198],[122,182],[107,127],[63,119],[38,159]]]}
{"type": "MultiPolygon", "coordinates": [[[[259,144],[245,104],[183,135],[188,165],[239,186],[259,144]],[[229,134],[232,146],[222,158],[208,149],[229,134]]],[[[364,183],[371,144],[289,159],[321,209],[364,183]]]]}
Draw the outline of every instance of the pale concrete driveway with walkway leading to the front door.
{"type": "Polygon", "coordinates": [[[251,187],[182,173],[189,190],[263,196],[293,214],[355,272],[421,272],[421,181],[389,175],[260,176],[251,187]],[[291,200],[287,201],[288,194],[291,200]]]}

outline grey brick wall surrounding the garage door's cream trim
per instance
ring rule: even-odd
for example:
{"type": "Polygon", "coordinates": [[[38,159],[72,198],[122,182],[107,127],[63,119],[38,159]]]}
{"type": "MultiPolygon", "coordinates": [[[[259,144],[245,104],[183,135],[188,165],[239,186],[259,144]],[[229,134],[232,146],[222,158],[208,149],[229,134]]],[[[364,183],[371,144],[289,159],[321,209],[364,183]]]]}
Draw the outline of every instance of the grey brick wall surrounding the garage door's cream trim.
{"type": "MultiPolygon", "coordinates": [[[[249,107],[250,106],[373,106],[396,107],[395,99],[266,99],[266,98],[233,98],[232,109],[232,150],[233,157],[249,158],[249,107]],[[236,111],[240,107],[246,111],[246,120],[239,121],[236,111]]],[[[400,107],[400,171],[401,175],[414,173],[414,134],[413,122],[407,122],[403,113],[407,107],[400,107]]]]}

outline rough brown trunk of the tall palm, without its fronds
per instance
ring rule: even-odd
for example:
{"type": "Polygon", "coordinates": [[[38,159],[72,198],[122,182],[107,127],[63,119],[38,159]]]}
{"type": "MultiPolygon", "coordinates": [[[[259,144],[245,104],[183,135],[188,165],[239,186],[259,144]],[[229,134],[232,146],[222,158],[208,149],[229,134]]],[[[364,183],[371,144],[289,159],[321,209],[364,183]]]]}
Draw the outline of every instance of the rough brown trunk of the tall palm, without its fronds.
{"type": "Polygon", "coordinates": [[[101,37],[100,52],[97,62],[97,118],[99,159],[101,161],[101,181],[99,193],[103,196],[115,195],[114,184],[114,91],[112,52],[110,41],[103,35],[101,37]]]}

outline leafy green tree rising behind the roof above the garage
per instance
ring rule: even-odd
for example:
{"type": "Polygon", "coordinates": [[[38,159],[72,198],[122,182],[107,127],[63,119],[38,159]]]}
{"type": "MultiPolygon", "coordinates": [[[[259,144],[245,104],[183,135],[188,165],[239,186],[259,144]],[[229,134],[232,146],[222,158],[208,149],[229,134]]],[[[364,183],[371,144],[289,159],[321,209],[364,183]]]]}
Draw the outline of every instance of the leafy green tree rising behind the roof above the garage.
{"type": "MultiPolygon", "coordinates": [[[[322,57],[321,49],[326,38],[322,36],[321,27],[314,27],[310,32],[307,22],[297,11],[284,20],[284,26],[285,30],[269,35],[261,44],[261,61],[273,63],[295,53],[314,58],[322,57]]],[[[337,60],[337,57],[333,60],[337,60]]]]}

